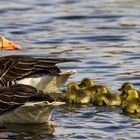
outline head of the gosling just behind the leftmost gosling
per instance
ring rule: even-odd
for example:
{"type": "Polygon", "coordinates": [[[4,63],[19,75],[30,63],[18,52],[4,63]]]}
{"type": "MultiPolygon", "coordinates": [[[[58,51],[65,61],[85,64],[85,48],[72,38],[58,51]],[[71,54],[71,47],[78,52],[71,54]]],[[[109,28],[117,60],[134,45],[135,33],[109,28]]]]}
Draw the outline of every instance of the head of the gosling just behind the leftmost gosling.
{"type": "Polygon", "coordinates": [[[79,84],[80,88],[88,88],[94,86],[94,81],[89,78],[84,78],[79,84]]]}

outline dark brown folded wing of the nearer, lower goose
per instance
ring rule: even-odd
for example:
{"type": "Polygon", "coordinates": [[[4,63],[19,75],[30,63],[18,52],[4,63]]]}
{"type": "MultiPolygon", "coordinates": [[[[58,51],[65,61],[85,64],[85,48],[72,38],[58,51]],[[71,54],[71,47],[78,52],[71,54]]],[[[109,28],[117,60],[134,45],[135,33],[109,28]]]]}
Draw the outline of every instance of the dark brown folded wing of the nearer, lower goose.
{"type": "Polygon", "coordinates": [[[30,101],[48,101],[54,99],[36,88],[17,84],[0,89],[0,114],[17,108],[30,101]]]}

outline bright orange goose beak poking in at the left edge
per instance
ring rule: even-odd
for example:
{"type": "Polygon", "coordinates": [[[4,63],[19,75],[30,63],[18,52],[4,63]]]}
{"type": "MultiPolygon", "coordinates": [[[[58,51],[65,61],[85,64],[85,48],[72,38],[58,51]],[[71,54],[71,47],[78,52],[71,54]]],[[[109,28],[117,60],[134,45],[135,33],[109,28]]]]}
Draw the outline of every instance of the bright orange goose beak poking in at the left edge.
{"type": "Polygon", "coordinates": [[[12,43],[3,36],[0,36],[0,49],[1,50],[18,50],[21,49],[20,45],[12,43]]]}

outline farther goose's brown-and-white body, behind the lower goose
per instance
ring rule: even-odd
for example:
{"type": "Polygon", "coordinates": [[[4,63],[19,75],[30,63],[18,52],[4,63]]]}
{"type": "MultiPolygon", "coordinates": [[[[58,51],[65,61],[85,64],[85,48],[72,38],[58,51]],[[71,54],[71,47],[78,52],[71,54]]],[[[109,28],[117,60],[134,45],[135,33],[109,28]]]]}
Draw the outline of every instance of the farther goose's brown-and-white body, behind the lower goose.
{"type": "Polygon", "coordinates": [[[75,70],[61,72],[58,63],[78,61],[63,58],[33,58],[11,55],[0,57],[0,87],[27,84],[47,93],[59,92],[75,70]]]}

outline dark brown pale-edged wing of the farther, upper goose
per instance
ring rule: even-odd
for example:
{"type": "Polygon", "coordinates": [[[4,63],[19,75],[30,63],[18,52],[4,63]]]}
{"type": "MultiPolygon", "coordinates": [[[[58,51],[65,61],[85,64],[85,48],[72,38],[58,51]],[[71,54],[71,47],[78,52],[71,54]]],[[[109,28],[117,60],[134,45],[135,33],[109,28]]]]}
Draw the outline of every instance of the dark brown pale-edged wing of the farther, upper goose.
{"type": "Polygon", "coordinates": [[[13,81],[26,78],[41,71],[58,76],[60,68],[56,64],[71,61],[78,60],[33,58],[19,55],[4,56],[0,58],[0,83],[2,87],[9,86],[13,81]]]}

